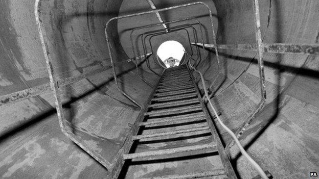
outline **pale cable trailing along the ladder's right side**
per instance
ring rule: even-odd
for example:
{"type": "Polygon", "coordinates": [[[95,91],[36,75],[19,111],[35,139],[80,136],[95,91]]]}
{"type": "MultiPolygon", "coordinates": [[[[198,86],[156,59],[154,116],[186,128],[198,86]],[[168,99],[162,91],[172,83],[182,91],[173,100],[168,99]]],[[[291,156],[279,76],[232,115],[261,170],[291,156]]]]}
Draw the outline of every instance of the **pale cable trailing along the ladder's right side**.
{"type": "MultiPolygon", "coordinates": [[[[187,52],[185,52],[187,54],[187,52]]],[[[188,55],[188,54],[187,54],[188,55]]],[[[189,56],[189,55],[188,55],[189,56]]],[[[191,57],[191,56],[190,56],[191,57]]],[[[212,104],[212,101],[211,101],[211,98],[209,97],[208,95],[208,91],[207,91],[207,88],[206,88],[206,84],[204,82],[204,78],[203,78],[203,75],[201,74],[201,72],[199,70],[196,70],[195,67],[193,67],[191,65],[191,61],[189,61],[189,66],[191,68],[193,68],[196,72],[199,73],[200,75],[200,78],[201,78],[201,82],[202,82],[202,85],[203,85],[203,88],[204,88],[204,92],[205,92],[205,95],[208,99],[208,102],[212,108],[212,110],[214,111],[214,114],[218,120],[218,122],[221,124],[221,126],[227,131],[227,133],[229,133],[232,138],[235,140],[236,144],[238,145],[239,149],[240,149],[240,152],[243,156],[245,156],[248,160],[248,162],[250,162],[250,164],[252,164],[254,166],[254,168],[258,171],[258,173],[260,174],[260,176],[263,178],[263,179],[268,179],[268,176],[266,175],[266,173],[263,171],[263,169],[254,161],[254,159],[252,159],[248,154],[247,152],[245,151],[245,149],[243,148],[243,146],[240,144],[239,140],[237,139],[236,135],[233,133],[232,130],[230,130],[222,121],[221,119],[219,118],[218,116],[218,113],[217,111],[215,110],[213,104],[212,104]]]]}

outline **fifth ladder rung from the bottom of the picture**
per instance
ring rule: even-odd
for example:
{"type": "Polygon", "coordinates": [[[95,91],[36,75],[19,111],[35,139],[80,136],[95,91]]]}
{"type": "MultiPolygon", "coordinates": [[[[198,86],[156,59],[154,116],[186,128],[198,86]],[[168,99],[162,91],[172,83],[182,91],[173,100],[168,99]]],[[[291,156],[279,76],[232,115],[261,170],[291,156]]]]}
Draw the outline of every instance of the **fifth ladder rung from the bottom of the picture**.
{"type": "Polygon", "coordinates": [[[202,110],[200,105],[192,105],[192,106],[186,106],[186,107],[180,107],[180,108],[146,112],[145,115],[161,115],[161,114],[170,115],[170,114],[186,113],[186,112],[199,111],[199,110],[202,110]]]}

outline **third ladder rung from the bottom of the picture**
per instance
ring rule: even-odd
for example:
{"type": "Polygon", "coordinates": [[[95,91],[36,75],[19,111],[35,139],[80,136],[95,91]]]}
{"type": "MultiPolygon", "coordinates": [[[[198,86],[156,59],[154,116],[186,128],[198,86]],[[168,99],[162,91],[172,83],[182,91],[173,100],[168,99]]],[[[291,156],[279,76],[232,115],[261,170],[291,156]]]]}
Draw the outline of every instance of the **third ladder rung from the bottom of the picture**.
{"type": "Polygon", "coordinates": [[[165,137],[165,139],[167,139],[167,138],[175,138],[173,135],[176,135],[176,134],[183,134],[183,136],[184,135],[189,136],[190,133],[194,133],[193,135],[198,135],[198,134],[204,134],[204,133],[210,133],[210,132],[211,130],[209,126],[192,127],[191,129],[185,129],[185,130],[132,136],[132,140],[149,139],[149,138],[157,138],[157,137],[165,137]]]}

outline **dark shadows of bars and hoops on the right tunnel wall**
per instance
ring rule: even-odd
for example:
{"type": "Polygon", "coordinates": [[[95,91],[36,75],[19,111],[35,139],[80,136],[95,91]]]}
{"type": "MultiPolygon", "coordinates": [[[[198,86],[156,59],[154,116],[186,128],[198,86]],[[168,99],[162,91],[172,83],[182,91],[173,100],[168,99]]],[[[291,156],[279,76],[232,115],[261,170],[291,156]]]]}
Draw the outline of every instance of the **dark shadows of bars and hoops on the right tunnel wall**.
{"type": "MultiPolygon", "coordinates": [[[[283,27],[282,27],[283,23],[282,23],[282,19],[281,19],[281,17],[283,17],[283,14],[282,14],[283,12],[281,11],[281,9],[282,9],[281,6],[282,5],[279,3],[279,1],[269,1],[269,4],[270,4],[269,5],[269,16],[268,16],[268,22],[267,22],[266,28],[269,27],[270,20],[276,20],[276,23],[275,23],[275,28],[276,28],[275,32],[277,32],[276,33],[276,37],[275,37],[276,41],[272,42],[272,43],[281,43],[281,42],[284,41],[283,37],[282,37],[282,34],[284,32],[282,30],[283,29],[283,27]],[[272,12],[273,13],[272,16],[270,16],[270,8],[275,9],[275,12],[272,12]],[[276,18],[270,19],[270,17],[274,17],[274,16],[276,18]]],[[[219,23],[219,39],[220,39],[221,42],[223,42],[223,38],[224,38],[223,37],[224,34],[222,34],[223,31],[221,31],[222,28],[224,28],[224,26],[223,26],[223,23],[220,22],[219,23]]],[[[263,38],[265,38],[265,35],[266,35],[266,33],[264,34],[263,38]]],[[[319,37],[319,34],[317,35],[315,43],[319,43],[318,37],[319,37]]],[[[210,50],[210,52],[215,53],[215,50],[210,50]]],[[[244,62],[248,62],[249,63],[247,68],[239,75],[239,77],[249,68],[249,66],[251,64],[258,64],[257,60],[255,59],[256,56],[254,58],[246,58],[246,57],[240,57],[240,56],[233,56],[233,55],[225,54],[225,53],[219,53],[219,55],[224,57],[224,58],[229,58],[229,59],[234,59],[234,60],[239,60],[239,61],[244,61],[244,62]]],[[[312,69],[307,69],[305,67],[298,68],[298,67],[294,67],[294,66],[290,66],[290,65],[284,65],[284,64],[282,64],[283,58],[284,58],[284,55],[277,54],[275,62],[264,61],[264,65],[266,67],[275,69],[275,73],[278,75],[278,77],[276,79],[277,80],[276,84],[278,85],[278,88],[276,88],[276,91],[275,91],[276,98],[275,98],[274,101],[272,101],[271,104],[268,104],[267,107],[265,107],[264,111],[259,113],[259,114],[264,114],[265,111],[271,112],[271,113],[268,113],[268,115],[266,117],[267,119],[266,120],[256,119],[256,121],[253,122],[254,126],[259,126],[259,127],[258,127],[258,130],[254,132],[253,138],[249,139],[249,141],[247,141],[246,145],[244,146],[245,149],[248,149],[250,146],[252,146],[257,141],[257,139],[266,131],[266,129],[269,127],[269,125],[271,123],[273,123],[278,118],[278,115],[280,113],[280,103],[282,101],[282,96],[281,96],[282,94],[281,93],[285,90],[285,89],[281,90],[281,88],[279,86],[279,84],[281,84],[281,82],[282,82],[282,73],[290,72],[290,73],[299,74],[299,75],[302,75],[302,76],[308,76],[309,78],[313,78],[313,79],[319,79],[319,71],[312,70],[312,69]],[[269,114],[271,114],[271,115],[269,116],[269,114]]],[[[312,56],[312,55],[308,56],[307,59],[305,60],[304,64],[303,64],[303,66],[308,61],[311,61],[314,58],[315,58],[315,56],[312,56]]],[[[224,61],[227,62],[227,60],[224,60],[224,61]]],[[[227,65],[224,64],[224,67],[226,67],[226,66],[227,65]]],[[[225,72],[224,74],[227,75],[227,72],[225,72]]],[[[234,84],[239,79],[239,77],[237,79],[235,79],[230,85],[227,85],[226,88],[228,88],[232,84],[234,84]]],[[[223,81],[222,84],[224,82],[225,81],[223,81]]],[[[218,91],[218,89],[220,89],[222,84],[219,85],[219,87],[217,89],[214,89],[213,93],[218,91]]],[[[225,89],[223,89],[223,90],[225,90],[225,89]]],[[[218,104],[218,101],[216,101],[216,102],[218,104]]],[[[240,130],[241,129],[239,129],[237,132],[239,132],[240,130]]],[[[250,131],[250,133],[251,133],[251,131],[250,131]]],[[[252,135],[252,134],[249,134],[249,135],[252,135]]],[[[244,132],[240,139],[245,139],[245,137],[247,137],[247,136],[248,136],[248,134],[245,134],[245,132],[244,132]]],[[[238,168],[237,167],[237,164],[238,164],[237,161],[238,161],[238,159],[240,157],[241,157],[241,153],[238,153],[233,159],[233,166],[234,166],[234,169],[236,170],[236,173],[237,173],[238,176],[239,176],[239,174],[238,174],[238,171],[237,171],[237,168],[238,168]]]]}

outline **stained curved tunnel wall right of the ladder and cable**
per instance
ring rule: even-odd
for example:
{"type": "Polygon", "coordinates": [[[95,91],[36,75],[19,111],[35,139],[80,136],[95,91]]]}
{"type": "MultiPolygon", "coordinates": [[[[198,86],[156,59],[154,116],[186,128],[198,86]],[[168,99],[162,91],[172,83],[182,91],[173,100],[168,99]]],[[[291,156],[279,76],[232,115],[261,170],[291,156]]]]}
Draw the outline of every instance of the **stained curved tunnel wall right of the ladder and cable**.
{"type": "MultiPolygon", "coordinates": [[[[252,1],[214,1],[218,14],[218,44],[256,43],[252,1]]],[[[260,1],[264,43],[318,43],[316,1],[260,1]]],[[[260,101],[257,53],[219,50],[222,75],[216,75],[216,61],[202,62],[212,98],[221,118],[234,132],[250,119],[260,101]],[[215,66],[215,67],[214,67],[215,66]],[[213,81],[217,78],[215,83],[213,81]]],[[[214,52],[211,52],[214,54],[214,52]]],[[[212,55],[213,58],[214,55],[212,55]]],[[[278,178],[303,178],[318,167],[317,56],[264,54],[267,99],[262,112],[240,137],[248,152],[263,169],[278,178]],[[317,90],[315,90],[317,91],[317,90]],[[305,152],[306,151],[306,152],[305,152]],[[303,167],[300,167],[301,164],[303,167]]],[[[199,84],[200,86],[200,84],[199,84]]],[[[218,124],[218,122],[216,121],[218,124]]],[[[225,144],[230,137],[218,125],[225,144]]],[[[243,172],[252,168],[231,149],[242,178],[257,175],[243,172]]]]}

